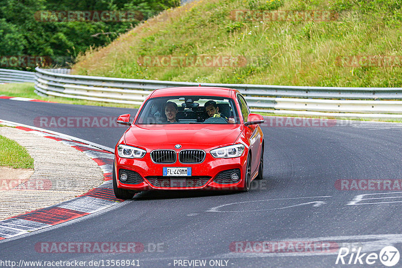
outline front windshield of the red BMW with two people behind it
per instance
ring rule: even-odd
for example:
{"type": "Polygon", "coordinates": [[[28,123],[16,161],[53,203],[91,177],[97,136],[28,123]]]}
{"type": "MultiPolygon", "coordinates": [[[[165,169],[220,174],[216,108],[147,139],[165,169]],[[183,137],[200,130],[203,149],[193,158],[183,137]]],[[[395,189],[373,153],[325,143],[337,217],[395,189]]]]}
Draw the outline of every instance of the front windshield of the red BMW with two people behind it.
{"type": "Polygon", "coordinates": [[[228,124],[239,123],[231,98],[216,96],[170,96],[149,99],[136,124],[228,124]]]}

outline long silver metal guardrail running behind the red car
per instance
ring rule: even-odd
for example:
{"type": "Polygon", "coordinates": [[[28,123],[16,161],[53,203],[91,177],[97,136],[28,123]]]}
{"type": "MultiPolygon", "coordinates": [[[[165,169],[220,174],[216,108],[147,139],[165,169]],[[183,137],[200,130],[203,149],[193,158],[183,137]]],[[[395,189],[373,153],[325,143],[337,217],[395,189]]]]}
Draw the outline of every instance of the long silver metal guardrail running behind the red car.
{"type": "MultiPolygon", "coordinates": [[[[199,85],[70,75],[68,69],[36,68],[36,71],[35,89],[38,94],[114,103],[141,104],[149,93],[158,88],[199,85]]],[[[402,118],[402,88],[201,84],[238,89],[252,111],[257,112],[402,118]]]]}

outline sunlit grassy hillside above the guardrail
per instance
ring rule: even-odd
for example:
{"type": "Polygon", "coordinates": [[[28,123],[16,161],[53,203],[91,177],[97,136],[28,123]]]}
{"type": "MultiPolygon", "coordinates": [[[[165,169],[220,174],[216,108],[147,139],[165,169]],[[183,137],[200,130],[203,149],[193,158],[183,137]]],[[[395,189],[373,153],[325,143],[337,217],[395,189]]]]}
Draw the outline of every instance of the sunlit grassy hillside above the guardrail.
{"type": "Polygon", "coordinates": [[[383,60],[402,59],[401,6],[396,0],[200,0],[165,11],[111,45],[81,55],[73,73],[191,82],[401,86],[402,61],[395,67],[383,60]],[[331,16],[325,21],[292,21],[288,15],[288,21],[234,19],[236,10],[330,11],[331,16]],[[147,67],[139,60],[156,55],[244,56],[247,64],[147,67]],[[378,66],[350,67],[344,65],[356,64],[339,60],[375,55],[381,59],[374,63],[378,66]]]}

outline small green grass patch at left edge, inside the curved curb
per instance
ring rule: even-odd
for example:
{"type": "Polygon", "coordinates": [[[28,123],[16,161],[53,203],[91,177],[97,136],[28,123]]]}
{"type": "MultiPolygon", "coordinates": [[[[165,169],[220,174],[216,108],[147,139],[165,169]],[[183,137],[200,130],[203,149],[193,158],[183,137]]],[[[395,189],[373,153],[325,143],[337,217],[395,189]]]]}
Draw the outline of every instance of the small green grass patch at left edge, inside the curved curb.
{"type": "Polygon", "coordinates": [[[34,160],[17,142],[0,136],[0,166],[33,169],[34,160]]]}

